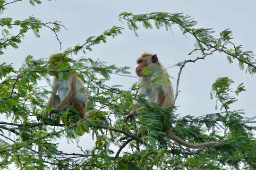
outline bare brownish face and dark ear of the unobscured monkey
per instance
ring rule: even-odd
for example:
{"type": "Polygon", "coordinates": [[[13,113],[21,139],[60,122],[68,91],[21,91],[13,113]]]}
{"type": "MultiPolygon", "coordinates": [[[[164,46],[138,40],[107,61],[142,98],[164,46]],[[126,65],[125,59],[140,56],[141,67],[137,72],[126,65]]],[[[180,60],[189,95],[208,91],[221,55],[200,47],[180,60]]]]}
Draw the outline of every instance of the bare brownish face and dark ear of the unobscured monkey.
{"type": "Polygon", "coordinates": [[[148,66],[153,66],[154,64],[156,64],[156,62],[158,62],[157,56],[152,55],[152,56],[146,56],[146,57],[140,57],[137,59],[137,63],[138,63],[138,67],[136,68],[136,73],[137,76],[139,77],[146,77],[149,76],[150,74],[143,74],[144,72],[144,68],[148,71],[153,71],[151,70],[152,67],[148,67],[148,66]]]}

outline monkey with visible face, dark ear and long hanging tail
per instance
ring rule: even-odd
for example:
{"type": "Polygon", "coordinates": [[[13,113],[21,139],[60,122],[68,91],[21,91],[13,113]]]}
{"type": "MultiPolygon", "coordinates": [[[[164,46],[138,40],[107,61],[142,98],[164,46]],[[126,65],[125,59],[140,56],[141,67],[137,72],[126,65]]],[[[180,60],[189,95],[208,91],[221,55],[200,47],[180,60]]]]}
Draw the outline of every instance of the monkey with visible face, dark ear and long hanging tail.
{"type": "MultiPolygon", "coordinates": [[[[170,106],[171,104],[174,103],[174,93],[173,93],[173,88],[171,86],[170,80],[169,80],[169,75],[161,65],[161,63],[158,61],[157,55],[156,54],[148,54],[144,53],[141,55],[140,58],[137,59],[138,67],[136,68],[136,73],[140,77],[139,78],[139,83],[141,84],[146,84],[151,78],[154,73],[158,73],[162,76],[163,82],[165,80],[166,84],[162,84],[159,82],[160,85],[154,84],[154,87],[147,87],[146,85],[142,86],[139,88],[138,93],[143,94],[145,99],[147,99],[149,102],[155,102],[161,104],[163,107],[170,106]],[[143,74],[143,68],[150,66],[147,70],[152,71],[152,74],[150,75],[144,75],[143,74]]],[[[135,102],[135,105],[138,105],[138,102],[135,102]]],[[[137,114],[137,108],[133,109],[130,112],[130,115],[137,114]]],[[[214,144],[219,144],[218,142],[206,142],[206,143],[201,143],[201,144],[191,144],[186,142],[185,140],[179,138],[176,136],[171,129],[167,130],[168,137],[186,147],[189,148],[203,148],[206,146],[211,146],[214,144]]]]}

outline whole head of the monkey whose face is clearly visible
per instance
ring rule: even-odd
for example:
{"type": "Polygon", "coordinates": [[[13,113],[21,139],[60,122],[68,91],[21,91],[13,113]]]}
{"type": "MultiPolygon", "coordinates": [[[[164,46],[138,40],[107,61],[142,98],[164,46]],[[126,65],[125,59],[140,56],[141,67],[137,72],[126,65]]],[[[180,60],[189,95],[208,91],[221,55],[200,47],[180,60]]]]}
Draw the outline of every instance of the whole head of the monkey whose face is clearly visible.
{"type": "Polygon", "coordinates": [[[145,70],[154,73],[154,68],[159,65],[158,58],[156,54],[144,53],[140,58],[137,59],[138,67],[136,68],[136,73],[138,76],[146,77],[151,75],[151,73],[145,74],[145,70]]]}

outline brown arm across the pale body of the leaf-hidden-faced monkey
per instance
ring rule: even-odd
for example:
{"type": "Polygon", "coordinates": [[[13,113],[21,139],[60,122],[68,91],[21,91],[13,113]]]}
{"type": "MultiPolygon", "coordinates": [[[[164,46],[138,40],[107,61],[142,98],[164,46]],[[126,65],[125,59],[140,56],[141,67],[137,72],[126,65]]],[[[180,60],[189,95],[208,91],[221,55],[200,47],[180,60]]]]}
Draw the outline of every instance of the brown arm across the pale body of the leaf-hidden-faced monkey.
{"type": "Polygon", "coordinates": [[[56,110],[64,109],[68,104],[72,103],[76,99],[77,95],[77,76],[70,75],[68,80],[68,95],[60,102],[60,104],[55,108],[56,110]]]}

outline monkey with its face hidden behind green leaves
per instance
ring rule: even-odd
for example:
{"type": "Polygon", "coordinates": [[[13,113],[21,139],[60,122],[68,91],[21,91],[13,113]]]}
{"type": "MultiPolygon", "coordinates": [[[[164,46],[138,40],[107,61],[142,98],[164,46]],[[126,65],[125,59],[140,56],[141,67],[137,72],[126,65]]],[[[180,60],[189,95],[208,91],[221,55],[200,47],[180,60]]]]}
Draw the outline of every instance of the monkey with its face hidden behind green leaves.
{"type": "MultiPolygon", "coordinates": [[[[70,59],[63,53],[51,55],[50,68],[55,68],[61,63],[63,66],[69,66],[70,59]]],[[[53,75],[54,76],[54,75],[53,75]]],[[[52,80],[52,93],[49,97],[49,106],[54,110],[63,110],[69,105],[73,105],[79,113],[80,117],[85,118],[85,111],[87,110],[87,93],[86,91],[78,91],[84,88],[84,84],[80,78],[74,74],[68,74],[67,79],[59,80],[56,76],[52,80]]],[[[60,124],[58,118],[57,124],[60,124]]]]}

